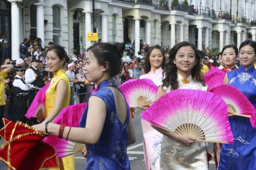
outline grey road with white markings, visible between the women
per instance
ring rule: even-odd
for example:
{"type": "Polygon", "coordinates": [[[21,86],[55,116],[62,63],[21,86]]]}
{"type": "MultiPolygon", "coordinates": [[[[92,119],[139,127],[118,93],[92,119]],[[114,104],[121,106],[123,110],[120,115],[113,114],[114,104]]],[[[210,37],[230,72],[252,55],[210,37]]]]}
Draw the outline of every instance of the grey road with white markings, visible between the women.
{"type": "MultiPolygon", "coordinates": [[[[132,170],[146,170],[144,157],[143,157],[143,136],[141,130],[141,113],[140,110],[135,110],[135,118],[133,119],[133,123],[135,125],[136,130],[136,142],[127,148],[127,153],[129,155],[129,160],[131,163],[132,170]]],[[[2,144],[2,142],[0,142],[2,144]]],[[[212,144],[208,145],[208,150],[213,151],[212,144]]],[[[83,170],[86,166],[86,159],[82,157],[81,154],[75,155],[75,170],[83,170]]],[[[3,163],[0,163],[0,169],[5,170],[3,163]]],[[[114,169],[113,169],[114,170],[114,169]]],[[[210,170],[216,170],[214,161],[210,161],[210,170]]]]}

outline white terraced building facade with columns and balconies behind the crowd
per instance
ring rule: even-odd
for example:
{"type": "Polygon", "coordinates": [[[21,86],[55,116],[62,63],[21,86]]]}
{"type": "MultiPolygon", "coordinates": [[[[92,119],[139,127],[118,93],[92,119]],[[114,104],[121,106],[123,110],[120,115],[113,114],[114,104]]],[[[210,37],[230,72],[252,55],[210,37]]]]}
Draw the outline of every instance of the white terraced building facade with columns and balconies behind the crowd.
{"type": "Polygon", "coordinates": [[[183,0],[176,6],[174,0],[94,1],[93,10],[88,0],[0,0],[0,29],[9,38],[11,58],[20,58],[23,38],[35,37],[42,46],[53,42],[68,54],[83,53],[92,43],[86,35],[94,31],[102,42],[130,38],[135,52],[140,39],[164,48],[189,41],[218,52],[226,44],[256,40],[256,0],[183,0]]]}

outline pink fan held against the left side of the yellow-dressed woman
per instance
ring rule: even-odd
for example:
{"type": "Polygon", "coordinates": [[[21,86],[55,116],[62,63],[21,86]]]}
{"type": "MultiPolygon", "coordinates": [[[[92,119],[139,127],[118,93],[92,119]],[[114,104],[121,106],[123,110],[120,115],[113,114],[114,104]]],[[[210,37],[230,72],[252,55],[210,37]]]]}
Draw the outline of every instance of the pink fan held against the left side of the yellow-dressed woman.
{"type": "Polygon", "coordinates": [[[50,83],[47,83],[36,93],[36,97],[32,101],[30,108],[26,113],[27,118],[42,118],[44,117],[44,101],[45,101],[45,92],[48,89],[50,83]]]}

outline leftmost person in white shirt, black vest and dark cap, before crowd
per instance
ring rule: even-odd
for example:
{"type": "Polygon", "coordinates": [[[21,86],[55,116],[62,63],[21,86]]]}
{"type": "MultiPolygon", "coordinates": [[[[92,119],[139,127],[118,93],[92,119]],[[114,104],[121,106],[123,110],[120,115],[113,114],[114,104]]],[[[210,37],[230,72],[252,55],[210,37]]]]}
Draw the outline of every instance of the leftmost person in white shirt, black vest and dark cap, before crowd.
{"type": "Polygon", "coordinates": [[[24,77],[24,69],[21,66],[15,67],[15,77],[13,79],[13,103],[15,103],[15,116],[13,122],[26,122],[25,114],[28,111],[28,91],[32,85],[26,83],[24,77]]]}

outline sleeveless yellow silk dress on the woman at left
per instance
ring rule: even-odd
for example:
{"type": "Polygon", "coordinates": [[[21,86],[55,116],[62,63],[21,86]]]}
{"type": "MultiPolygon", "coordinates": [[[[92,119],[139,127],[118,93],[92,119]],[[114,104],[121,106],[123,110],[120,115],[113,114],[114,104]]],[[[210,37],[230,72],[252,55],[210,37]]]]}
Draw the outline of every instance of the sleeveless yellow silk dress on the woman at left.
{"type": "MultiPolygon", "coordinates": [[[[55,107],[55,97],[56,97],[56,87],[59,81],[63,79],[67,85],[67,95],[63,99],[63,105],[62,109],[65,108],[67,105],[69,105],[69,99],[70,99],[70,85],[69,85],[69,78],[66,75],[65,69],[60,69],[53,75],[53,79],[51,79],[51,84],[49,88],[46,91],[46,97],[45,97],[45,115],[44,118],[49,116],[49,114],[53,111],[53,108],[55,107]]],[[[68,157],[64,157],[62,159],[63,161],[63,167],[65,170],[74,170],[75,169],[75,155],[71,155],[68,157]]],[[[51,168],[51,170],[57,170],[59,168],[51,168]]]]}

